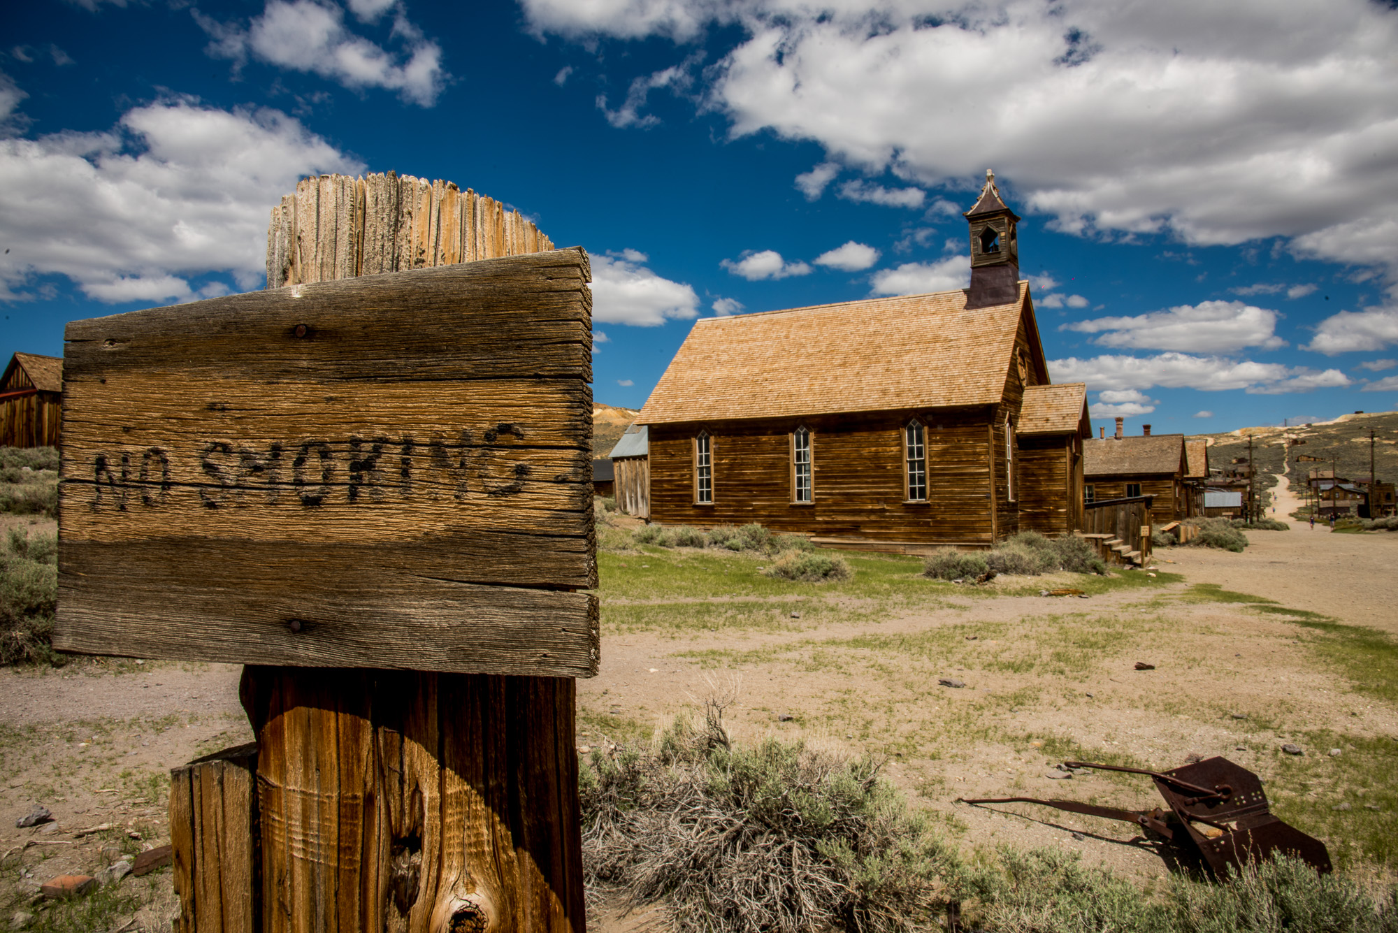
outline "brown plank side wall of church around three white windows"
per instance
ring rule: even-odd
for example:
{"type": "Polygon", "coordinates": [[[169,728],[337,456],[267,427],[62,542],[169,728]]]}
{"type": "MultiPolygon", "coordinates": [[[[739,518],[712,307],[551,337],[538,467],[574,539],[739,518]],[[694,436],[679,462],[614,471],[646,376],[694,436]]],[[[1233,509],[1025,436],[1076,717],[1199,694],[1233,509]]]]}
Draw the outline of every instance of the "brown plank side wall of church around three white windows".
{"type": "MultiPolygon", "coordinates": [[[[779,532],[928,543],[990,543],[991,409],[920,413],[928,501],[905,501],[903,426],[917,412],[651,425],[651,518],[698,527],[761,522],[779,532]],[[811,430],[814,501],[791,501],[790,433],[811,430]],[[713,497],[693,501],[692,440],[713,439],[713,497]]],[[[1001,439],[1001,443],[1004,440],[1001,439]]]]}

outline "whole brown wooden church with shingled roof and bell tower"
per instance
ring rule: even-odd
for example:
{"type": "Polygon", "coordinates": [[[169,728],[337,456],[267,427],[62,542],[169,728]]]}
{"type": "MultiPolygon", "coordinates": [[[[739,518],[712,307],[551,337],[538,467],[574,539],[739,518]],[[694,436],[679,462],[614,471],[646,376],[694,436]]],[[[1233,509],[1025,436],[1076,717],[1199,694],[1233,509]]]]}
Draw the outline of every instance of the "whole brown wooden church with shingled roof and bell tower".
{"type": "Polygon", "coordinates": [[[698,321],[637,418],[651,520],[909,553],[1067,531],[1083,387],[1029,392],[1048,369],[993,176],[965,216],[969,289],[698,321]]]}

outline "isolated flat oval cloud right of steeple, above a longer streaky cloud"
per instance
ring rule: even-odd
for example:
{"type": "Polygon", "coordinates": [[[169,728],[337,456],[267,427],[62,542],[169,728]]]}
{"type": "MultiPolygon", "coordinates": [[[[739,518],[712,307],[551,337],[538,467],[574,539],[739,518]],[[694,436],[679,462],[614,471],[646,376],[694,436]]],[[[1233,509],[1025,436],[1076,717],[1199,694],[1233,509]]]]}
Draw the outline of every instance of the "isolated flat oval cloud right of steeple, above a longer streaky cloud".
{"type": "Polygon", "coordinates": [[[1232,353],[1246,346],[1276,349],[1276,311],[1243,302],[1179,304],[1135,317],[1097,317],[1064,330],[1100,334],[1102,346],[1232,353]]]}

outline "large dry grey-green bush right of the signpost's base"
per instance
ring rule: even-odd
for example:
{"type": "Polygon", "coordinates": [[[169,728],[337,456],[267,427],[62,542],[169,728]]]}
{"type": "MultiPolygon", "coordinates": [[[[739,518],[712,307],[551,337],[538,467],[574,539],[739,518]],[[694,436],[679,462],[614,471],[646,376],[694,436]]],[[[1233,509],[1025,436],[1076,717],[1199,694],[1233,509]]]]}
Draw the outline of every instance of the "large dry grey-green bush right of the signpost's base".
{"type": "Polygon", "coordinates": [[[582,768],[590,884],[667,901],[682,933],[927,929],[952,866],[868,758],[734,747],[710,703],[582,768]]]}

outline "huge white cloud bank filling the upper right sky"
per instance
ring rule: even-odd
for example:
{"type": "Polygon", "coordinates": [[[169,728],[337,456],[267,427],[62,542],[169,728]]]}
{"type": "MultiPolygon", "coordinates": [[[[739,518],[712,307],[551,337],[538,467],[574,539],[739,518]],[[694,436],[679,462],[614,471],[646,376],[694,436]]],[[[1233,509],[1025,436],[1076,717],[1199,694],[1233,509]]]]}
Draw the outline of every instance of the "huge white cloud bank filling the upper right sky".
{"type": "Polygon", "coordinates": [[[987,166],[1067,232],[1285,237],[1398,272],[1398,13],[1373,0],[523,0],[573,39],[735,35],[703,106],[868,177],[987,166]],[[987,92],[993,89],[993,92],[987,92]]]}

